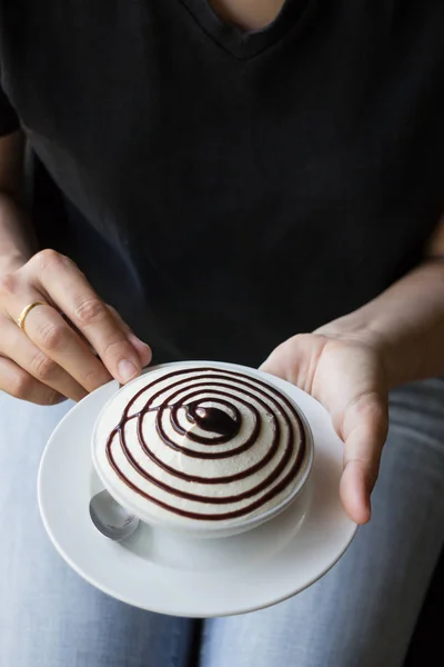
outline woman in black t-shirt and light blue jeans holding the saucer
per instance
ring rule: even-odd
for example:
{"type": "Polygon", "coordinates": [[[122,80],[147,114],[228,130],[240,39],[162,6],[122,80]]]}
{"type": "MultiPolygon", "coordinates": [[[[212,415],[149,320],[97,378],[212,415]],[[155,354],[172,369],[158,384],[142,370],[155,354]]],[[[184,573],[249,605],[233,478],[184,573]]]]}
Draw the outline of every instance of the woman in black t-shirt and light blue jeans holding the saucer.
{"type": "MultiPolygon", "coordinates": [[[[16,0],[0,19],[0,388],[79,400],[135,377],[147,342],[266,359],[330,410],[367,525],[299,596],[205,621],[200,665],[401,666],[443,542],[444,4],[16,0]],[[52,188],[39,252],[23,136],[52,188]]],[[[192,620],[99,594],[43,535],[36,469],[67,408],[0,409],[0,665],[185,665],[192,620]]]]}

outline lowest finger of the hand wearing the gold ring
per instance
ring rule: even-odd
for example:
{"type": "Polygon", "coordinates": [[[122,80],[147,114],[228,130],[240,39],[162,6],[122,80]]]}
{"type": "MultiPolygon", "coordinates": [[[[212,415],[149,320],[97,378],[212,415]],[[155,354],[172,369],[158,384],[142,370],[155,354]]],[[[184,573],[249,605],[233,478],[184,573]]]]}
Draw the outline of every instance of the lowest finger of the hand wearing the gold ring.
{"type": "Polygon", "coordinates": [[[65,400],[51,387],[36,380],[11,359],[0,357],[0,391],[39,406],[53,406],[65,400]]]}

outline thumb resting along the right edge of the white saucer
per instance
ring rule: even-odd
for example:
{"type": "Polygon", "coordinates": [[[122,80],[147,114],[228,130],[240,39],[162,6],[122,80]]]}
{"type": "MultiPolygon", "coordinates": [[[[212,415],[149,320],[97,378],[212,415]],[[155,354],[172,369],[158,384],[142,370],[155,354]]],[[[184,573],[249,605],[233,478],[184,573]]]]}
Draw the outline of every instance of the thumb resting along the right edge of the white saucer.
{"type": "Polygon", "coordinates": [[[364,395],[345,409],[342,422],[344,470],[341,499],[357,524],[371,517],[371,494],[377,479],[389,427],[387,408],[376,394],[364,395]]]}

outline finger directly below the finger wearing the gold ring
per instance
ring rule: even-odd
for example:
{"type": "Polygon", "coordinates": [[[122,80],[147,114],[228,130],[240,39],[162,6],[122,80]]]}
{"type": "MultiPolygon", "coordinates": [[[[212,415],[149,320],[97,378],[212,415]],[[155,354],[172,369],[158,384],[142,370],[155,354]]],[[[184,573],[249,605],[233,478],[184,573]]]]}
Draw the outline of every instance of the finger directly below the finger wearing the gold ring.
{"type": "Polygon", "coordinates": [[[10,320],[1,321],[1,354],[12,359],[42,385],[56,389],[62,396],[79,401],[87,390],[56,361],[50,359],[10,320]]]}

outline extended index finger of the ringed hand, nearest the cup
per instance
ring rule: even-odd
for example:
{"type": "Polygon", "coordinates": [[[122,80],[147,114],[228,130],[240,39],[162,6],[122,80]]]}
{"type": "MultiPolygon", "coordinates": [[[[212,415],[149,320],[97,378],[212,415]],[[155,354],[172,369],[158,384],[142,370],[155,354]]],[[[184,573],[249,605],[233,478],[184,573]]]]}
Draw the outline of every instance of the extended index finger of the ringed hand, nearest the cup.
{"type": "Polygon", "coordinates": [[[82,332],[109,372],[122,384],[140,375],[138,352],[77,266],[52,251],[40,253],[37,261],[41,288],[82,332]]]}

